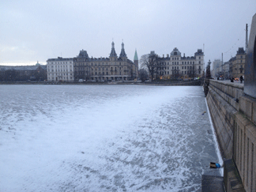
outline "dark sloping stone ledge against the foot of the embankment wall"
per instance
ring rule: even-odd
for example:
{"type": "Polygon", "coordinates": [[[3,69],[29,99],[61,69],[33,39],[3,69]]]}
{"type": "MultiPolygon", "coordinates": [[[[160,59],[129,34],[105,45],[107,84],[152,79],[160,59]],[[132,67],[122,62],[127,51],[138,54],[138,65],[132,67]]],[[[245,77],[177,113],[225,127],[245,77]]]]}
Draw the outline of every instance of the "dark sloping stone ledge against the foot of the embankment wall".
{"type": "Polygon", "coordinates": [[[227,192],[246,191],[243,188],[242,180],[232,159],[224,160],[224,183],[227,192]]]}

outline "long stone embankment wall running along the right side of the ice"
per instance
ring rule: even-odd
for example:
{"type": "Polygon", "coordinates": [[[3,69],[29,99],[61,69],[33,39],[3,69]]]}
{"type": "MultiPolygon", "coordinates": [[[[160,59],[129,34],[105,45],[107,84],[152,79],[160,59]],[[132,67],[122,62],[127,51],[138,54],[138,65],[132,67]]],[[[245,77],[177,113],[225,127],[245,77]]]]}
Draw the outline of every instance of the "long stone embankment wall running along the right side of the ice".
{"type": "Polygon", "coordinates": [[[242,84],[214,80],[209,80],[206,99],[227,160],[226,190],[256,192],[256,100],[244,95],[242,84]]]}

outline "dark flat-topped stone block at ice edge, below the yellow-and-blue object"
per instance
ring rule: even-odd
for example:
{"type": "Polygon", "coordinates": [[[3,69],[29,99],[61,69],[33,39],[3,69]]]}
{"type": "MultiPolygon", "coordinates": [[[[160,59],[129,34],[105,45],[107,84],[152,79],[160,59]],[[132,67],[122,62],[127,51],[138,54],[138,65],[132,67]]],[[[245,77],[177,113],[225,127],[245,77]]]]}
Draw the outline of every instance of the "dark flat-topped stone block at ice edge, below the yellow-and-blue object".
{"type": "Polygon", "coordinates": [[[201,175],[202,192],[224,192],[224,178],[214,175],[201,175]]]}

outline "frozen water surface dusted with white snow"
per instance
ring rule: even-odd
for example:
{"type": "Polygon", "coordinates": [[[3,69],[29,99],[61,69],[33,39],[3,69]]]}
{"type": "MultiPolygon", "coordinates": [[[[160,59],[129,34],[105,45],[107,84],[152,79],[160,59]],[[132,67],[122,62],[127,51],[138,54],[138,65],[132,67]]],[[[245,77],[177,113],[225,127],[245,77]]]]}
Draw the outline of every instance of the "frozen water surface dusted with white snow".
{"type": "Polygon", "coordinates": [[[0,191],[200,191],[220,175],[199,86],[0,85],[0,98],[0,191]]]}

